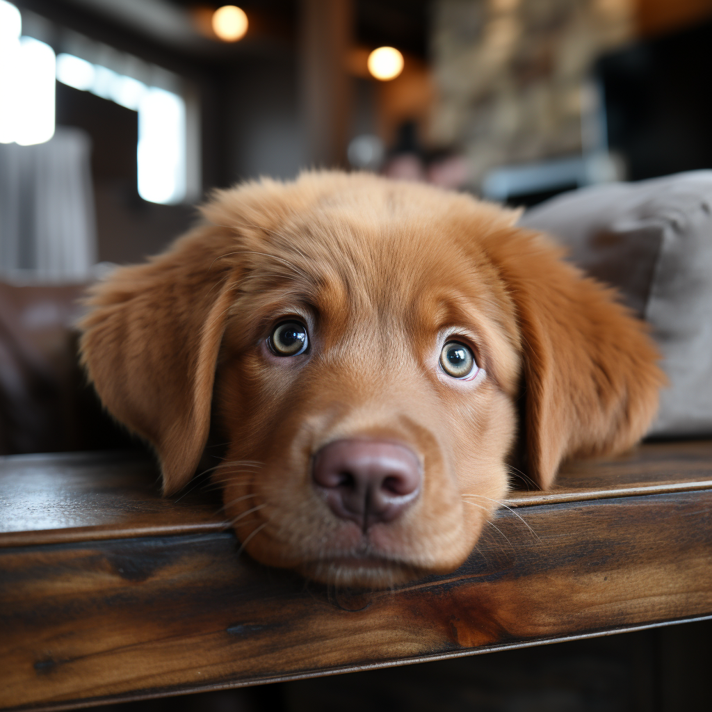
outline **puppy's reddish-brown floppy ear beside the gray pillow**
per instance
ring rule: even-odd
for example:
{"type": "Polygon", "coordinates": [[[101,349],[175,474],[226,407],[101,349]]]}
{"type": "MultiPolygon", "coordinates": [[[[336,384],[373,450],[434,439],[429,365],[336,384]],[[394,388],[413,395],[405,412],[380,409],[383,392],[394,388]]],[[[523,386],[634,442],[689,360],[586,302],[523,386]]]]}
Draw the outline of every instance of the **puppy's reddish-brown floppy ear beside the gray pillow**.
{"type": "Polygon", "coordinates": [[[548,488],[563,460],[624,451],[642,438],[666,379],[646,325],[614,290],[562,261],[548,238],[508,231],[488,252],[518,312],[524,464],[548,488]]]}

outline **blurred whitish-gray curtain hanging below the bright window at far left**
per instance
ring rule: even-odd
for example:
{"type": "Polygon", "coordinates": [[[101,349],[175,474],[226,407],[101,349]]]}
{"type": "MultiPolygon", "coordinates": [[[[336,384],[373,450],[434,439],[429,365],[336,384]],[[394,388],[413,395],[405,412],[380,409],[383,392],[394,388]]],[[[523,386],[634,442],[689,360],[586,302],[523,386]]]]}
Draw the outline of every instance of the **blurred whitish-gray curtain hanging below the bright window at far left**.
{"type": "Polygon", "coordinates": [[[0,276],[83,281],[96,262],[88,135],[57,127],[46,143],[0,144],[0,276]]]}

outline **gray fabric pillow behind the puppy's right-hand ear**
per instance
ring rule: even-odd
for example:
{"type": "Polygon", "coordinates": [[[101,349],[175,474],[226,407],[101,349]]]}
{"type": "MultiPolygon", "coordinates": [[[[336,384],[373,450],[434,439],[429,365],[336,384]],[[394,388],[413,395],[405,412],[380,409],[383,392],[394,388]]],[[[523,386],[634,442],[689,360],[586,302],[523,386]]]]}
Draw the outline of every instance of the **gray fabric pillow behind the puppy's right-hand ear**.
{"type": "Polygon", "coordinates": [[[712,434],[712,171],[580,189],[520,224],[559,239],[651,324],[670,387],[649,434],[712,434]]]}

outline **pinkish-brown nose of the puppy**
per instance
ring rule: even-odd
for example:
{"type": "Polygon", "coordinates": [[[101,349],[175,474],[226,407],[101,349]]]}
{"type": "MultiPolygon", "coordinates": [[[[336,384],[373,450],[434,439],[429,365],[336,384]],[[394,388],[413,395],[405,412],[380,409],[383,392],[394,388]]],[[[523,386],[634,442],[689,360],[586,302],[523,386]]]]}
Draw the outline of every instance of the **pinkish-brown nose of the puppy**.
{"type": "Polygon", "coordinates": [[[365,531],[399,517],[420,492],[420,464],[404,445],[374,440],[337,440],[314,460],[313,479],[331,511],[365,531]]]}

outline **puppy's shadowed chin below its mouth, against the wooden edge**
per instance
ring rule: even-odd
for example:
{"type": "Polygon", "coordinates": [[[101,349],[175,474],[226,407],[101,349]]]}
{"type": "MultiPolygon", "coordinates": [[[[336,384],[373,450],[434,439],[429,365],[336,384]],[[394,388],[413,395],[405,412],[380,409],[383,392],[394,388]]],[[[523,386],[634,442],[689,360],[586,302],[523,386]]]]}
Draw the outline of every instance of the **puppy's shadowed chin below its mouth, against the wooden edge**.
{"type": "Polygon", "coordinates": [[[304,562],[298,572],[307,579],[350,590],[391,588],[429,573],[407,562],[367,555],[304,562]]]}

